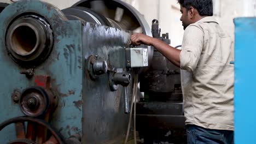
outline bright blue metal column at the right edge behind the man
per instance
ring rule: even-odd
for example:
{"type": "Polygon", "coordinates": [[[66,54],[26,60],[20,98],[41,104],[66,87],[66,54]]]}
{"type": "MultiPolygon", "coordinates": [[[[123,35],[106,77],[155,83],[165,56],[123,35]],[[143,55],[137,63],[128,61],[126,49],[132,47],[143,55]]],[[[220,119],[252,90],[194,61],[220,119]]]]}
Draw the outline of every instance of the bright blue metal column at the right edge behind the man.
{"type": "Polygon", "coordinates": [[[235,143],[256,143],[256,18],[235,22],[235,143]]]}

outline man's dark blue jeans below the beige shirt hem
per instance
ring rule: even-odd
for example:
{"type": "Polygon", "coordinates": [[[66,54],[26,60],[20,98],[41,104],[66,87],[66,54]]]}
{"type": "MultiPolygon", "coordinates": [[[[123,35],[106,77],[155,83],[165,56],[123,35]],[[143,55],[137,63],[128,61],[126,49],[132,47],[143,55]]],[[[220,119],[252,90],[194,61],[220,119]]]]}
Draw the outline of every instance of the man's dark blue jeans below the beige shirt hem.
{"type": "Polygon", "coordinates": [[[188,144],[234,144],[234,131],[187,125],[188,144]]]}

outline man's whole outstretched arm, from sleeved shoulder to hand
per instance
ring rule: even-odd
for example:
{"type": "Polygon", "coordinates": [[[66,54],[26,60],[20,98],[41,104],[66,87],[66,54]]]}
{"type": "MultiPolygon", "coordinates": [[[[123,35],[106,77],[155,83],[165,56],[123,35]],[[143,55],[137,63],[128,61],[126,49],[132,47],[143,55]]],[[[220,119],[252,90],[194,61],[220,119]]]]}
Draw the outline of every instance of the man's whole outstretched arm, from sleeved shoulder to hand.
{"type": "Polygon", "coordinates": [[[185,29],[182,51],[167,45],[159,39],[148,37],[144,34],[132,35],[131,44],[152,45],[177,67],[188,71],[194,71],[201,57],[203,37],[204,33],[202,29],[191,25],[185,29]]]}

